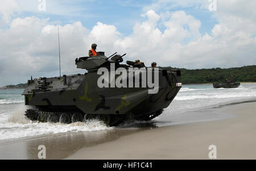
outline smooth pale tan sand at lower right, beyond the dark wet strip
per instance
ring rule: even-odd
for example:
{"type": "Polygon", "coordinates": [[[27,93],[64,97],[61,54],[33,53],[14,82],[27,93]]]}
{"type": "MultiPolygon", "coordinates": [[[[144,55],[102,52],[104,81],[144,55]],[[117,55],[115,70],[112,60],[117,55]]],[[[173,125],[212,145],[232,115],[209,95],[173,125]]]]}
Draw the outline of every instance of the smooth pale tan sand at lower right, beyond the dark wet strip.
{"type": "Polygon", "coordinates": [[[256,102],[223,107],[236,117],[210,122],[176,124],[122,136],[82,148],[67,159],[256,159],[256,102]]]}

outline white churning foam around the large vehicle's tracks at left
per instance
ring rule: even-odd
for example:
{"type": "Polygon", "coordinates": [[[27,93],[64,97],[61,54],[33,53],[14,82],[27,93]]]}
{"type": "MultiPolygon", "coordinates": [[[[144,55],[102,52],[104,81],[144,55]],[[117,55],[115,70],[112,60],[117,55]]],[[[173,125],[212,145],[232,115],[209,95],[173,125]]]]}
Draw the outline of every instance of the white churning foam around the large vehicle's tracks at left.
{"type": "Polygon", "coordinates": [[[76,122],[71,124],[32,122],[24,116],[25,111],[30,109],[30,107],[24,106],[22,103],[16,105],[0,105],[0,107],[2,107],[2,110],[0,110],[0,141],[42,135],[55,135],[65,132],[113,129],[113,127],[106,126],[100,120],[89,120],[86,123],[76,122]]]}

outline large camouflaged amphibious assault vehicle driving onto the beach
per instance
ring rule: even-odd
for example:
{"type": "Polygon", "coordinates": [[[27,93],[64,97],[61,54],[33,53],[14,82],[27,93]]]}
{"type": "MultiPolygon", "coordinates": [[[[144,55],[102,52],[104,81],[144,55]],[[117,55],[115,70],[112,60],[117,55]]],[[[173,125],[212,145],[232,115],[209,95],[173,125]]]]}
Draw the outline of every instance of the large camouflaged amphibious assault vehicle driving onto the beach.
{"type": "Polygon", "coordinates": [[[149,68],[133,61],[121,64],[123,56],[114,53],[110,59],[104,52],[97,52],[97,56],[75,60],[77,68],[88,71],[84,74],[34,80],[31,77],[22,94],[25,105],[32,106],[25,115],[31,120],[53,123],[86,122],[97,118],[109,126],[126,119],[151,120],[159,116],[181,88],[180,70],[149,68]],[[103,76],[99,73],[100,68],[108,73],[103,76]],[[146,75],[143,72],[130,74],[133,69],[144,70],[146,75]],[[116,74],[118,70],[122,71],[122,77],[121,72],[116,74]],[[146,81],[143,76],[147,76],[146,81]],[[121,87],[115,85],[120,77],[123,79],[119,84],[124,85],[121,87]],[[145,85],[149,80],[151,84],[145,85]],[[152,87],[157,81],[158,84],[152,87]],[[150,94],[153,89],[158,91],[150,94]]]}

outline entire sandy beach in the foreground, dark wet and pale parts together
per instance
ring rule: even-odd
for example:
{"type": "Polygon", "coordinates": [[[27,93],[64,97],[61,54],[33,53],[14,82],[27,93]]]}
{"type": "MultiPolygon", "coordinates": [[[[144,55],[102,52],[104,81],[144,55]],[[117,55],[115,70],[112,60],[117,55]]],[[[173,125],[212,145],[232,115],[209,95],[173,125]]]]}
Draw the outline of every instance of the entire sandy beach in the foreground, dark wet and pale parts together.
{"type": "Polygon", "coordinates": [[[224,105],[113,130],[1,141],[0,159],[38,159],[39,145],[46,146],[46,159],[208,159],[212,144],[217,159],[256,159],[255,105],[224,105]]]}

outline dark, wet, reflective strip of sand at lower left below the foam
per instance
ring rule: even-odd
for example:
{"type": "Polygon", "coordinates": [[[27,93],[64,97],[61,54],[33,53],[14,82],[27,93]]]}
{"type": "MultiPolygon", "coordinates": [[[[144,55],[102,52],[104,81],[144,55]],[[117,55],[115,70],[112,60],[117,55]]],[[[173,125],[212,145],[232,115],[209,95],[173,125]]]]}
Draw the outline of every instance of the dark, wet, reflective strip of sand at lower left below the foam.
{"type": "Polygon", "coordinates": [[[142,131],[147,128],[130,128],[113,130],[72,132],[51,136],[28,137],[19,140],[7,140],[0,143],[0,160],[38,159],[39,145],[46,147],[46,159],[64,159],[83,147],[113,141],[121,136],[142,131]]]}

